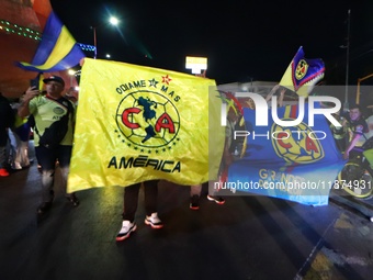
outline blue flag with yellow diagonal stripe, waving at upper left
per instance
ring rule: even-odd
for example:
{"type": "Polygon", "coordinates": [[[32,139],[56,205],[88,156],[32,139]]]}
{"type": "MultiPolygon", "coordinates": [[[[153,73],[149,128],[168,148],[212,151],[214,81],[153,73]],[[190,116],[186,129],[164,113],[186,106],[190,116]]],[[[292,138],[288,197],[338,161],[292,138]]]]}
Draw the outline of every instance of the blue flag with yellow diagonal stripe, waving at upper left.
{"type": "Polygon", "coordinates": [[[29,71],[54,72],[78,65],[83,57],[83,52],[70,32],[50,12],[32,63],[18,63],[18,66],[29,71]]]}

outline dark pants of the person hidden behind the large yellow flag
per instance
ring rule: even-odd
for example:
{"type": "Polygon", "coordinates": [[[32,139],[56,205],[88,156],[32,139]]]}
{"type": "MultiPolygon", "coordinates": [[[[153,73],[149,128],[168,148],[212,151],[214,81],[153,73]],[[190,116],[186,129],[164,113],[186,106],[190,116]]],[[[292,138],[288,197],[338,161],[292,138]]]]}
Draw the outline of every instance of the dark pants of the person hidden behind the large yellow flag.
{"type": "MultiPolygon", "coordinates": [[[[148,216],[157,212],[158,181],[159,180],[150,180],[143,182],[145,211],[148,216]]],[[[131,223],[135,221],[140,186],[142,183],[139,182],[124,188],[123,220],[128,220],[131,223]]]]}

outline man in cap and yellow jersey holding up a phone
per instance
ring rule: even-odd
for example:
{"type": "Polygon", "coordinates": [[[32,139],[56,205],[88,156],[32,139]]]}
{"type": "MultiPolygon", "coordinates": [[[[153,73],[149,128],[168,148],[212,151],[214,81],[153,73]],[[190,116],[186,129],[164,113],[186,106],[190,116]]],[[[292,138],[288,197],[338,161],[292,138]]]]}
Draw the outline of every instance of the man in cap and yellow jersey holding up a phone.
{"type": "MultiPolygon", "coordinates": [[[[42,204],[37,208],[38,215],[45,214],[52,208],[57,161],[61,171],[61,183],[66,190],[76,112],[74,103],[61,94],[65,88],[63,78],[52,76],[43,81],[46,83],[46,94],[41,94],[37,89],[30,87],[18,110],[20,116],[33,114],[35,119],[34,145],[37,161],[42,167],[43,188],[42,204]],[[63,120],[66,120],[64,124],[63,120]]],[[[66,193],[66,198],[74,206],[79,205],[75,193],[66,193]]]]}

